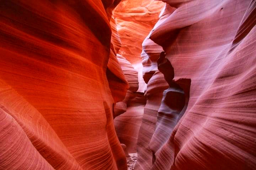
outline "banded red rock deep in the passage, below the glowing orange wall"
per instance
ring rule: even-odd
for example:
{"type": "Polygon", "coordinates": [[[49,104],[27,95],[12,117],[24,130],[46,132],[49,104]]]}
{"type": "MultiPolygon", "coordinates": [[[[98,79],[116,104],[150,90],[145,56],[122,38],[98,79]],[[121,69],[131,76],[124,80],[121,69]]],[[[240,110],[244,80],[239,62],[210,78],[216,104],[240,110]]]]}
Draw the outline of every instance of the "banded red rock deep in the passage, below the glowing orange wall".
{"type": "Polygon", "coordinates": [[[137,150],[137,139],[140,124],[142,122],[143,109],[145,106],[144,93],[137,92],[139,88],[138,72],[126,58],[117,55],[124,75],[130,88],[122,102],[118,102],[114,109],[114,126],[118,139],[127,146],[129,153],[135,153],[137,150]]]}

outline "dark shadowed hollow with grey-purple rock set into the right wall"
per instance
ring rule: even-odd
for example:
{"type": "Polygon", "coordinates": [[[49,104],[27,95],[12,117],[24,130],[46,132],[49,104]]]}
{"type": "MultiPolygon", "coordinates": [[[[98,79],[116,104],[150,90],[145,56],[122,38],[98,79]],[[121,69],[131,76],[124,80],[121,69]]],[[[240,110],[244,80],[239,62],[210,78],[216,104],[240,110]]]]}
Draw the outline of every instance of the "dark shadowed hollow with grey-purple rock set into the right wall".
{"type": "Polygon", "coordinates": [[[154,164],[158,152],[161,147],[170,138],[172,131],[182,115],[185,113],[189,95],[191,79],[174,79],[174,68],[171,62],[165,58],[165,52],[161,52],[157,61],[158,70],[164,74],[164,78],[169,85],[169,88],[163,92],[163,98],[158,110],[155,132],[149,143],[152,151],[152,163],[154,164]]]}

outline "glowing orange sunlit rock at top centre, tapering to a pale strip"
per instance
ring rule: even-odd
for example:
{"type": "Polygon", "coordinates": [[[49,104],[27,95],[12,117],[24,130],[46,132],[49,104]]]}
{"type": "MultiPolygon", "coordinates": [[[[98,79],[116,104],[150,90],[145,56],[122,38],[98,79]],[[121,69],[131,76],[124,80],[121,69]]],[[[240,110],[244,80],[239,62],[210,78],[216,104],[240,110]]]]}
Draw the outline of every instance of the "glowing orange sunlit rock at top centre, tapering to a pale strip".
{"type": "Polygon", "coordinates": [[[140,53],[142,42],[158,21],[164,2],[155,0],[123,0],[113,10],[122,46],[119,54],[138,71],[139,89],[144,92],[140,53]]]}

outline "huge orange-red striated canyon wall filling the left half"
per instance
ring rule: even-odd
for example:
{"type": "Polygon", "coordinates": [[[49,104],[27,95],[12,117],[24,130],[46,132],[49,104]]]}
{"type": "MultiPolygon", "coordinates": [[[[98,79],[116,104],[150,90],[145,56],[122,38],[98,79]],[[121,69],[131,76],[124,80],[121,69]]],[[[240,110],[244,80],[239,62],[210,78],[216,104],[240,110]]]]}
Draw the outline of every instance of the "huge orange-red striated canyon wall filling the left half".
{"type": "Polygon", "coordinates": [[[129,88],[116,3],[0,1],[1,170],[127,169],[113,124],[129,88]]]}

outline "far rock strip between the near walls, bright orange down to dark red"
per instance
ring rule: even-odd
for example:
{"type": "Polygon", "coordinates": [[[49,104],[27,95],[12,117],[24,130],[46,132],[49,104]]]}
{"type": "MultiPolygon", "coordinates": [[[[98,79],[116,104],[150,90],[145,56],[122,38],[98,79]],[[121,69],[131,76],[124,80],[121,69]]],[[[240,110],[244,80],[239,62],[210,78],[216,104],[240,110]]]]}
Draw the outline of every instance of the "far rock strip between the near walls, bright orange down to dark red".
{"type": "Polygon", "coordinates": [[[164,3],[154,0],[121,1],[113,10],[121,41],[118,61],[130,88],[122,102],[116,104],[114,119],[117,136],[129,153],[137,152],[137,140],[146,99],[140,54],[142,42],[159,19],[164,3]],[[121,115],[120,115],[121,114],[121,115]]]}

